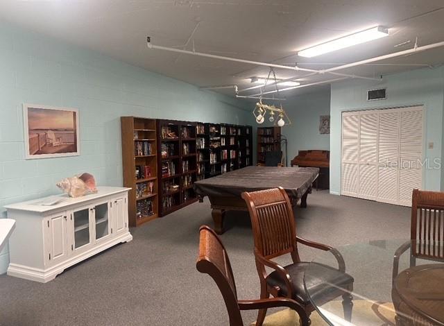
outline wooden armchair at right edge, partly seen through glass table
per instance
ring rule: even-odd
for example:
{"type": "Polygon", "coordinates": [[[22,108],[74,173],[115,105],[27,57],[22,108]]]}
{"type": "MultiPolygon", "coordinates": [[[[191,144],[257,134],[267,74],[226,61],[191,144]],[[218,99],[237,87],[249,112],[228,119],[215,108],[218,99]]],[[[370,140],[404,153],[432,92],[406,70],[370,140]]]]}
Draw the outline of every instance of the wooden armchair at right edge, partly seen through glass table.
{"type": "MultiPolygon", "coordinates": [[[[442,268],[433,264],[416,266],[416,259],[444,262],[444,192],[413,189],[410,231],[410,240],[400,246],[393,257],[392,299],[397,311],[396,324],[444,325],[427,314],[427,311],[438,309],[436,304],[437,300],[442,302],[442,292],[438,295],[439,299],[434,298],[436,294],[418,292],[417,289],[425,289],[427,292],[430,282],[434,280],[412,276],[424,271],[430,272],[433,268],[442,268]],[[410,268],[399,273],[400,257],[407,250],[410,250],[410,268]],[[410,287],[416,290],[411,291],[410,287]],[[421,300],[417,300],[418,295],[421,300]],[[427,300],[427,297],[432,299],[427,300]]],[[[439,293],[442,287],[441,283],[434,289],[439,293]]]]}

